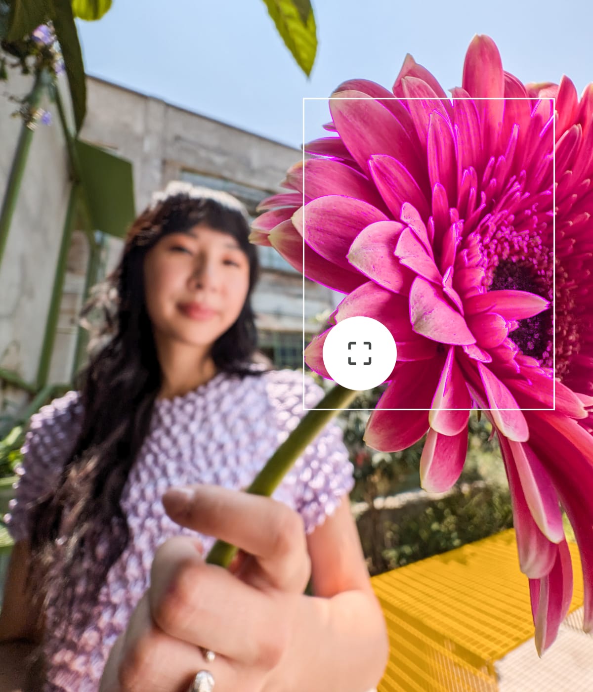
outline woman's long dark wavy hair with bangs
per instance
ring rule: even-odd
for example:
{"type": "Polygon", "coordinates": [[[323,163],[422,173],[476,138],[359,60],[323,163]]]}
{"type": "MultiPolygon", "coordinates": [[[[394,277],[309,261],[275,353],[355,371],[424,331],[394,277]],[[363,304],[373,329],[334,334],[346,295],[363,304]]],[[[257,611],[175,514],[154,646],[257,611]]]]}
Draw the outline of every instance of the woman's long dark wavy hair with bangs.
{"type": "MultiPolygon", "coordinates": [[[[50,497],[39,498],[33,509],[28,584],[35,583],[35,592],[43,599],[42,612],[50,601],[60,599],[64,631],[69,626],[85,626],[84,614],[73,612],[75,595],[84,589],[85,601],[95,603],[111,565],[129,543],[120,498],[147,435],[162,377],[145,307],[145,256],[164,235],[199,224],[235,237],[250,267],[243,309],[212,346],[217,371],[235,376],[265,371],[253,367],[266,358],[257,352],[250,304],[259,263],[256,247],[248,242],[246,210],[226,193],[188,183],[170,184],[134,221],[117,268],[95,289],[83,310],[87,322],[91,315],[100,314],[101,323],[95,330],[88,365],[77,382],[82,428],[73,452],[64,459],[57,490],[50,497]],[[105,534],[109,548],[99,559],[98,542],[105,534]],[[84,556],[93,562],[91,574],[84,572],[84,556]],[[59,596],[50,594],[53,579],[60,579],[59,596]]],[[[266,365],[266,369],[271,367],[269,361],[266,365]]]]}

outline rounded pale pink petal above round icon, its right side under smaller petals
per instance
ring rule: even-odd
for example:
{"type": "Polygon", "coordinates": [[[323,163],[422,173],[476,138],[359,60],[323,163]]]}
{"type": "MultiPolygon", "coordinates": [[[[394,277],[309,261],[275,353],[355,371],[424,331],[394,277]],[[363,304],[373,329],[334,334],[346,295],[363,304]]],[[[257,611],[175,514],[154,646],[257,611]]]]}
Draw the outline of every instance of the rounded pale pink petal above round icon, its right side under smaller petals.
{"type": "Polygon", "coordinates": [[[410,293],[414,274],[394,257],[403,230],[397,221],[377,221],[358,233],[347,255],[348,262],[379,286],[394,293],[410,293]]]}

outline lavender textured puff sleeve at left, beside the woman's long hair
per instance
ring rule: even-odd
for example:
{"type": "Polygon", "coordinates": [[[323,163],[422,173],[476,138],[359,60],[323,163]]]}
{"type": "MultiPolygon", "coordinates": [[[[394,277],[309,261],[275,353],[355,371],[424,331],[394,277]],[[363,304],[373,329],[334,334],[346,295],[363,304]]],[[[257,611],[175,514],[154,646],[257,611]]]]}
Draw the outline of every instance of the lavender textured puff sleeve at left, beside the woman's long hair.
{"type": "Polygon", "coordinates": [[[15,542],[30,536],[30,509],[35,500],[51,492],[57,484],[80,426],[82,404],[79,392],[74,391],[54,399],[31,417],[21,448],[23,459],[16,468],[18,479],[12,486],[15,496],[3,517],[15,542]]]}

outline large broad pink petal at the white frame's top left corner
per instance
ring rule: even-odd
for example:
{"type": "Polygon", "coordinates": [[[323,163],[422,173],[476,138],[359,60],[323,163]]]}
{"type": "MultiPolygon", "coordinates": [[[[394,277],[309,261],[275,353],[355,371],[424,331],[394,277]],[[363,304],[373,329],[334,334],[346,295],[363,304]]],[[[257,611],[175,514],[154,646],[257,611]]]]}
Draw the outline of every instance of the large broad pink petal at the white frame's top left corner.
{"type": "Polygon", "coordinates": [[[329,101],[331,117],[364,172],[368,171],[372,154],[387,154],[396,158],[421,188],[426,186],[426,172],[417,149],[399,120],[381,102],[365,98],[361,91],[340,91],[334,96],[338,100],[329,101]]]}

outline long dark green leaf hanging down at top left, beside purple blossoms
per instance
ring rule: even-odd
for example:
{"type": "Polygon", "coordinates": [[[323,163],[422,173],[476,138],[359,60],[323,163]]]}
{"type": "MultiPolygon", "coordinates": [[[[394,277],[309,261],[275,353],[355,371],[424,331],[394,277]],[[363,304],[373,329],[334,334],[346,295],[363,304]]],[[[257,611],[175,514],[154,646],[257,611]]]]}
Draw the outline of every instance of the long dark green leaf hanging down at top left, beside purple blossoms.
{"type": "Polygon", "coordinates": [[[62,48],[64,67],[70,84],[76,131],[79,131],[86,115],[86,80],[82,51],[70,0],[53,0],[53,3],[55,7],[53,28],[62,48]]]}

